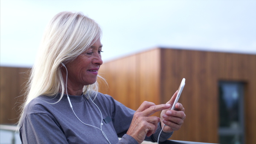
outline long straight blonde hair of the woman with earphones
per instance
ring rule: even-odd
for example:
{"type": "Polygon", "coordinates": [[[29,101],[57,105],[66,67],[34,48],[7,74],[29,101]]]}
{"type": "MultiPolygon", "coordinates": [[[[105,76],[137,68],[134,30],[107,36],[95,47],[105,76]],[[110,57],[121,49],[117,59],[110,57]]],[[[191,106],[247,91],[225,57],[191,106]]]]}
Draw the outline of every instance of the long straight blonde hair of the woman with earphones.
{"type": "MultiPolygon", "coordinates": [[[[32,67],[18,126],[21,124],[24,108],[32,99],[39,95],[54,96],[59,92],[63,97],[65,84],[61,75],[61,63],[74,60],[101,35],[99,25],[81,12],[60,12],[52,18],[32,67]]],[[[87,86],[87,89],[98,92],[98,82],[87,86]]],[[[87,90],[83,89],[83,92],[86,94],[87,90]]]]}

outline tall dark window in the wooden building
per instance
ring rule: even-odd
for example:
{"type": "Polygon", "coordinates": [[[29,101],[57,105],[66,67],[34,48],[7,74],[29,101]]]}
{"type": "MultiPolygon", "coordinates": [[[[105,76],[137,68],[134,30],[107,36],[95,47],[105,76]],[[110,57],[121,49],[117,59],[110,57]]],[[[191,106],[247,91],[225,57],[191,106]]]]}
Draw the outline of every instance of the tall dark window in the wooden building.
{"type": "Polygon", "coordinates": [[[244,84],[219,82],[219,143],[244,144],[244,84]]]}

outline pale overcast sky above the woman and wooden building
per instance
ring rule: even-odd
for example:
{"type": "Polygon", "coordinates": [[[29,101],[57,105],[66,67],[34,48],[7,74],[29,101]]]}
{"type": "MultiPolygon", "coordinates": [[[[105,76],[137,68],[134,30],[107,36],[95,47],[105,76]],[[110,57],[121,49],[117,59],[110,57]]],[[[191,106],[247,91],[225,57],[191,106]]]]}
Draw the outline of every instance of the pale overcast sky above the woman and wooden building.
{"type": "Polygon", "coordinates": [[[61,11],[103,30],[103,61],[154,47],[256,55],[256,0],[0,0],[0,65],[31,67],[61,11]]]}

